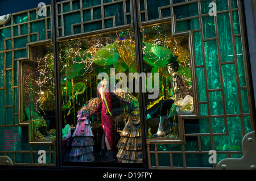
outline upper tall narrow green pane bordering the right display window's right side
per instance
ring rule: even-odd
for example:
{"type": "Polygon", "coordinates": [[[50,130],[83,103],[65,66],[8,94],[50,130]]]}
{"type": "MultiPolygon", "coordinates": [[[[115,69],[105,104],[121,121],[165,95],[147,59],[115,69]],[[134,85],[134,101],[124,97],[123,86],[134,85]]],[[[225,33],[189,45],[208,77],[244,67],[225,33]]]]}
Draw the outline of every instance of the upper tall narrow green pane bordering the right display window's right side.
{"type": "Polygon", "coordinates": [[[194,49],[195,49],[195,61],[196,65],[203,65],[203,52],[202,52],[202,42],[201,42],[201,32],[193,32],[194,39],[194,49]]]}

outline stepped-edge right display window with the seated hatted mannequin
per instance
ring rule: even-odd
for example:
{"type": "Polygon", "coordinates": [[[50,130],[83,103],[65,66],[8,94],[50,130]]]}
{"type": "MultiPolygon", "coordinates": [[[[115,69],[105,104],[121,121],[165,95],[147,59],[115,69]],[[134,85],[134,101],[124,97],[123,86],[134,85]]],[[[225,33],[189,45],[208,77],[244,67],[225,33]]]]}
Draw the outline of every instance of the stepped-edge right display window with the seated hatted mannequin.
{"type": "Polygon", "coordinates": [[[143,71],[152,74],[145,94],[147,138],[175,140],[180,136],[179,114],[194,112],[188,37],[172,37],[170,23],[141,31],[143,71]]]}

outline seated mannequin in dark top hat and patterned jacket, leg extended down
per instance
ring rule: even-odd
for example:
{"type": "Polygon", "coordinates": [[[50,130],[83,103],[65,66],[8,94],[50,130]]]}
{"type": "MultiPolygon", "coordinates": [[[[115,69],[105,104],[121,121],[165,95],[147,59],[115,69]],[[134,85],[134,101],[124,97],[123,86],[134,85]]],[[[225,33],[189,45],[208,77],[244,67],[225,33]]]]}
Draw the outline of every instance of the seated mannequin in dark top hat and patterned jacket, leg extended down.
{"type": "MultiPolygon", "coordinates": [[[[174,92],[174,99],[161,100],[159,102],[159,106],[157,106],[155,110],[147,112],[147,120],[158,115],[160,116],[158,132],[154,134],[155,137],[162,137],[167,134],[167,129],[164,128],[164,125],[166,124],[166,119],[168,117],[167,110],[171,109],[172,104],[177,104],[179,99],[183,99],[187,95],[192,96],[192,92],[187,86],[187,83],[178,73],[179,62],[176,60],[177,56],[171,56],[170,58],[168,58],[168,64],[166,64],[166,66],[168,67],[168,72],[170,73],[172,78],[172,89],[174,92]]],[[[138,121],[138,123],[133,123],[134,126],[137,126],[139,124],[140,121],[138,121]]]]}

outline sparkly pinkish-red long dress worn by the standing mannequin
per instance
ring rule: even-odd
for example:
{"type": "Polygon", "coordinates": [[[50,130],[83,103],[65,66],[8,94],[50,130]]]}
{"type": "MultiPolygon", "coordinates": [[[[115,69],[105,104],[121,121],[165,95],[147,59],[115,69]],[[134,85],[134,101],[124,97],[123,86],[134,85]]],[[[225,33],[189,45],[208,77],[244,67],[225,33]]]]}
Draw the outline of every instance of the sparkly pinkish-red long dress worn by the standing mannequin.
{"type": "MultiPolygon", "coordinates": [[[[100,86],[101,87],[101,86],[100,86]]],[[[100,87],[98,87],[98,90],[100,90],[100,87]]],[[[100,92],[98,92],[98,95],[101,98],[100,92]]],[[[109,111],[112,111],[112,104],[111,104],[111,95],[110,92],[105,92],[105,98],[106,102],[108,104],[109,111]]],[[[112,126],[112,117],[109,115],[107,108],[105,107],[102,98],[101,98],[101,122],[102,122],[102,128],[105,133],[106,138],[108,139],[110,148],[113,150],[113,126],[112,126]]]]}

